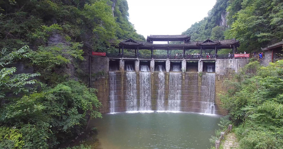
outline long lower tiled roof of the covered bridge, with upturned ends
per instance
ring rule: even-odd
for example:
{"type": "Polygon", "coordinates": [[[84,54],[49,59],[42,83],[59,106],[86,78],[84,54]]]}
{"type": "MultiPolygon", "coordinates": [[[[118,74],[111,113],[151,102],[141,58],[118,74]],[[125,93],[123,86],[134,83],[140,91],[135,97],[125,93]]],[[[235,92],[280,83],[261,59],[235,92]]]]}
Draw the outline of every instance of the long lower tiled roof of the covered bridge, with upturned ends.
{"type": "Polygon", "coordinates": [[[205,40],[205,41],[188,41],[179,44],[153,44],[147,41],[135,41],[127,39],[119,43],[119,47],[125,49],[154,49],[154,50],[182,50],[182,49],[232,49],[239,47],[239,41],[236,39],[228,40],[205,40]]]}

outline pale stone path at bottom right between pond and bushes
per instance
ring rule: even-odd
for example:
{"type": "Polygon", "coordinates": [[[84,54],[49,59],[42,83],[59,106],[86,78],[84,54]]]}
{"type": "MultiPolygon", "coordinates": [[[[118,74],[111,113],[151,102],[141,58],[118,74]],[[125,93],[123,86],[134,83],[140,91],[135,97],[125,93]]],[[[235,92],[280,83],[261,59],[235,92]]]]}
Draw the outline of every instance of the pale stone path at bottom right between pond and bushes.
{"type": "Polygon", "coordinates": [[[221,142],[223,149],[237,149],[239,143],[234,133],[230,132],[225,135],[225,140],[221,142]]]}

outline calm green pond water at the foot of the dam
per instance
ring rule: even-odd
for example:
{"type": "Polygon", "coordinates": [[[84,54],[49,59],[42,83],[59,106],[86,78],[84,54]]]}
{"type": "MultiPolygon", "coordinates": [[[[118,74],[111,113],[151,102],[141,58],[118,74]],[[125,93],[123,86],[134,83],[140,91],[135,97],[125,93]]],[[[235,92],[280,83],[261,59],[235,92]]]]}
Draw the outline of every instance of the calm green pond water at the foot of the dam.
{"type": "Polygon", "coordinates": [[[187,112],[115,113],[92,125],[101,149],[207,149],[219,121],[220,116],[187,112]]]}

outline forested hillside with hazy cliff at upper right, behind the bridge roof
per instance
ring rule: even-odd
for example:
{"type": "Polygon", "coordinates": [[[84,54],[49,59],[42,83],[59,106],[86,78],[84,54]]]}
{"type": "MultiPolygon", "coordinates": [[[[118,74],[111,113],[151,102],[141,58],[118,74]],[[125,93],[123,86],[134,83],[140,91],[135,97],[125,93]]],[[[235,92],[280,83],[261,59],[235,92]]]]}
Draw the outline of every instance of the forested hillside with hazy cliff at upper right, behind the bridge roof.
{"type": "Polygon", "coordinates": [[[252,52],[281,41],[282,32],[282,0],[217,0],[207,17],[182,34],[194,41],[236,38],[239,51],[252,52]]]}

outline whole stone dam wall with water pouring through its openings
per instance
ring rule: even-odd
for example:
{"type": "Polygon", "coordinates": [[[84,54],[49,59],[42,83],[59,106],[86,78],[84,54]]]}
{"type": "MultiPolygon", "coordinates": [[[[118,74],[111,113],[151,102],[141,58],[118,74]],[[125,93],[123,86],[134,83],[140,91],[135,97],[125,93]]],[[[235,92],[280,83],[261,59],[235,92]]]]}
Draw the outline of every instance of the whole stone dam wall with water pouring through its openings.
{"type": "Polygon", "coordinates": [[[185,111],[224,115],[217,93],[249,59],[154,60],[85,58],[100,112],[185,111]],[[102,73],[103,72],[103,73],[102,73]]]}

